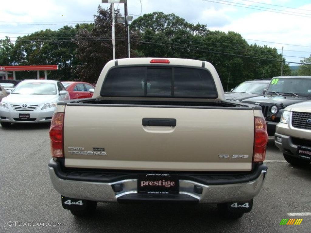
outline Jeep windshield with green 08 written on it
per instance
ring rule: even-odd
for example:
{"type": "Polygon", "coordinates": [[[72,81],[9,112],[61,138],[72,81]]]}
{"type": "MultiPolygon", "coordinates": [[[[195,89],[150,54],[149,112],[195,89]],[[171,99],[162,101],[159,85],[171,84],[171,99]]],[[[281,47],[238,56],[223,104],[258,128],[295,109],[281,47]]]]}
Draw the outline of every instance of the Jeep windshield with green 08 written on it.
{"type": "Polygon", "coordinates": [[[269,94],[294,93],[298,95],[311,95],[311,79],[274,78],[271,80],[271,83],[267,89],[267,93],[269,94]]]}

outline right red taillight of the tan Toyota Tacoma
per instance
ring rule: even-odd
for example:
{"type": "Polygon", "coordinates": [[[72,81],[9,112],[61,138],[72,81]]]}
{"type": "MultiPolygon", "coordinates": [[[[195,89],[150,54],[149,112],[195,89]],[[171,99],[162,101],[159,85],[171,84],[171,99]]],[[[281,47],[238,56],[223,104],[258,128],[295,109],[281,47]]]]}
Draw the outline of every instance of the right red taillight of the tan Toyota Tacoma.
{"type": "Polygon", "coordinates": [[[253,162],[263,162],[266,157],[266,147],[268,143],[268,133],[266,121],[262,117],[255,117],[255,139],[253,162]]]}

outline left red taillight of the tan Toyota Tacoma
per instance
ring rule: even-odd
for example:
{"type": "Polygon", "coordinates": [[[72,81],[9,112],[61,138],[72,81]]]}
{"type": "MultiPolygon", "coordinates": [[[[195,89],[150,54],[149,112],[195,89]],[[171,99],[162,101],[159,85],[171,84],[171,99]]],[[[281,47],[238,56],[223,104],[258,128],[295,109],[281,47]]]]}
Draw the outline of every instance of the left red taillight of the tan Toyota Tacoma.
{"type": "Polygon", "coordinates": [[[64,113],[57,112],[52,117],[51,128],[50,128],[50,139],[51,139],[51,152],[52,157],[63,158],[63,126],[64,126],[64,113]]]}

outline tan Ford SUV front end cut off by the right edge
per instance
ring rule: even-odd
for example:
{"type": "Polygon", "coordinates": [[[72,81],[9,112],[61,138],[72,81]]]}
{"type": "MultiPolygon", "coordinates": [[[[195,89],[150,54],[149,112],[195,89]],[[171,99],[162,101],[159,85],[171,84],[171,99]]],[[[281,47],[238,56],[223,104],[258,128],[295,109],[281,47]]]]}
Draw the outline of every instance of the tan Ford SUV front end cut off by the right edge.
{"type": "Polygon", "coordinates": [[[297,166],[311,162],[311,101],[284,109],[274,141],[287,162],[297,166]]]}

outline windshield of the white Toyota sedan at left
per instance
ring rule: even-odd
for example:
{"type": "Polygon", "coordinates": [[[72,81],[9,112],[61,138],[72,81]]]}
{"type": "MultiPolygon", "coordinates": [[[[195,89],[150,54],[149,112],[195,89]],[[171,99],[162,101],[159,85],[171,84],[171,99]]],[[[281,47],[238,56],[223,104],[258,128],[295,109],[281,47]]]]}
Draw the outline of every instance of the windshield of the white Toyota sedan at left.
{"type": "Polygon", "coordinates": [[[16,86],[12,94],[56,95],[54,83],[25,82],[16,86]]]}

